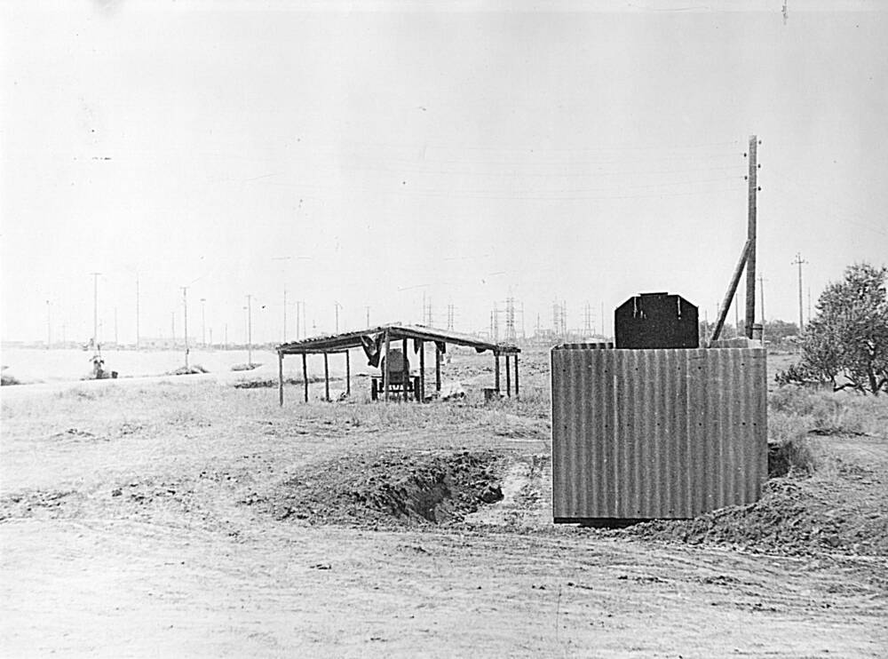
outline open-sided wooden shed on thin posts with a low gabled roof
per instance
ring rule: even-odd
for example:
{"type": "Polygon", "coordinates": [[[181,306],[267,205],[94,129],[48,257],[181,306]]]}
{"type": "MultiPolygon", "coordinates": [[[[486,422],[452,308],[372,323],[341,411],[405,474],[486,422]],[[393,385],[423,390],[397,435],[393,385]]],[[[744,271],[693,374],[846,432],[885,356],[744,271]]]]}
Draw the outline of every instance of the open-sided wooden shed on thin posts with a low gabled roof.
{"type": "MultiPolygon", "coordinates": [[[[292,343],[278,345],[278,392],[283,405],[283,359],[288,354],[302,355],[302,374],[305,380],[305,401],[308,401],[308,355],[321,354],[324,358],[324,392],[325,399],[329,401],[329,355],[344,354],[345,355],[345,387],[346,393],[351,393],[351,350],[361,348],[362,353],[367,357],[369,366],[378,367],[385,357],[389,354],[392,342],[400,341],[402,345],[402,353],[408,354],[408,342],[413,341],[417,352],[419,353],[419,391],[416,395],[417,401],[425,400],[425,351],[424,344],[431,342],[435,345],[435,389],[440,392],[441,373],[440,373],[440,355],[447,350],[447,345],[464,345],[474,348],[479,353],[490,351],[494,355],[494,374],[496,393],[501,391],[500,377],[500,357],[505,358],[505,385],[506,394],[511,396],[512,379],[514,376],[514,391],[517,396],[519,393],[519,376],[518,376],[518,355],[521,352],[519,347],[511,344],[490,343],[482,341],[476,337],[470,337],[464,334],[448,331],[445,329],[433,329],[422,325],[401,325],[394,323],[390,325],[382,325],[371,329],[362,329],[361,331],[343,332],[325,337],[310,337],[292,343]]],[[[405,362],[405,371],[407,364],[405,362]]],[[[405,372],[405,377],[408,373],[405,372]]],[[[389,369],[382,369],[382,395],[383,400],[389,400],[391,383],[389,383],[389,369]]],[[[408,400],[408,387],[403,387],[402,392],[404,400],[408,400]]]]}

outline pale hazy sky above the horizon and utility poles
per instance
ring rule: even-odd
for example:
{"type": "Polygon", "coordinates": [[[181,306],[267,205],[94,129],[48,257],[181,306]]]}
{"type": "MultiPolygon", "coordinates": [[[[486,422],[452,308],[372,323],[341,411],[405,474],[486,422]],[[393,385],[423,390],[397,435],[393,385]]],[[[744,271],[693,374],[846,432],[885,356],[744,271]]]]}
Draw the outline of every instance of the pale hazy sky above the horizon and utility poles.
{"type": "Polygon", "coordinates": [[[134,342],[137,282],[143,338],[187,308],[243,341],[248,295],[258,342],[297,301],[309,334],[502,331],[507,298],[519,333],[563,301],[610,334],[647,291],[713,321],[751,135],[765,316],[796,322],[797,254],[805,317],[888,263],[888,12],[787,5],[3,4],[0,337],[87,341],[95,284],[134,342]]]}

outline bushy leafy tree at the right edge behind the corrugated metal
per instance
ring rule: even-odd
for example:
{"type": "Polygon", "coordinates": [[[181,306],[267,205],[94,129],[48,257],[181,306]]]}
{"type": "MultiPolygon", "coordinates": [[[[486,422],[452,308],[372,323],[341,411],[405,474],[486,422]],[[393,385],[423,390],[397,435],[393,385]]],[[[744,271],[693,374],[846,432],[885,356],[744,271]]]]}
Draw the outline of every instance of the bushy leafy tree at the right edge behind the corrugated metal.
{"type": "Polygon", "coordinates": [[[848,266],[844,280],[830,283],[805,327],[802,368],[833,388],[878,395],[888,391],[888,268],[848,266]],[[847,381],[837,385],[837,378],[847,381]]]}

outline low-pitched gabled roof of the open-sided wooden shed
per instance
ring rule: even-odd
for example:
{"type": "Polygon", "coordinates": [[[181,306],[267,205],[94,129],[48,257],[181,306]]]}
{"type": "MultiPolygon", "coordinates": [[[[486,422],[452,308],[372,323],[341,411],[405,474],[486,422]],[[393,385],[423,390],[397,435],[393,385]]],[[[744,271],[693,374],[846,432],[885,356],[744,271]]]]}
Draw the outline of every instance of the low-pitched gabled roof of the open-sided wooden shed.
{"type": "Polygon", "coordinates": [[[438,343],[451,345],[465,345],[472,347],[480,353],[485,350],[492,350],[498,353],[520,353],[521,350],[517,345],[506,343],[491,343],[482,341],[476,337],[467,334],[459,334],[447,329],[434,329],[425,327],[424,325],[402,325],[400,323],[391,323],[388,325],[380,325],[379,327],[370,329],[361,329],[360,331],[343,332],[341,334],[333,334],[323,337],[309,337],[300,341],[292,341],[277,346],[277,352],[281,354],[301,354],[301,353],[335,353],[349,348],[361,347],[367,339],[376,341],[377,337],[385,332],[389,333],[392,340],[402,338],[415,338],[424,341],[435,341],[438,343]]]}

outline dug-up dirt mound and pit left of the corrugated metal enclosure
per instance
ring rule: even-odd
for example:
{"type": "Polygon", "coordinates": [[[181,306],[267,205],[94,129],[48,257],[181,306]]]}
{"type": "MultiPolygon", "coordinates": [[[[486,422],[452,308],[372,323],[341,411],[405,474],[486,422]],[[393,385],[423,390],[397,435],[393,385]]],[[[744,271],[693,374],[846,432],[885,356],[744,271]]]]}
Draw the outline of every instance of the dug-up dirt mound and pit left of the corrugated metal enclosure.
{"type": "Polygon", "coordinates": [[[503,498],[489,451],[387,452],[311,465],[263,501],[279,519],[377,526],[459,521],[503,498]]]}

